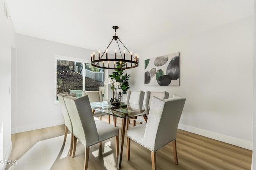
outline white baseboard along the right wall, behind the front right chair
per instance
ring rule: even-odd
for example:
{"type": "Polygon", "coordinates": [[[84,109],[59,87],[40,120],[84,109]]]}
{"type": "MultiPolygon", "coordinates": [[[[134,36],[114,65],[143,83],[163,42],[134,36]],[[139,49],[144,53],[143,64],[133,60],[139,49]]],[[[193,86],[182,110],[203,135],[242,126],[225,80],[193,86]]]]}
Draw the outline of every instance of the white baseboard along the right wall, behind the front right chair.
{"type": "Polygon", "coordinates": [[[196,127],[191,127],[191,126],[183,125],[183,124],[179,124],[178,129],[182,129],[184,131],[188,131],[188,132],[191,132],[191,133],[196,133],[198,135],[209,137],[211,139],[215,139],[215,140],[222,141],[222,142],[225,142],[225,143],[229,143],[231,145],[235,145],[235,146],[238,146],[238,147],[241,147],[241,148],[252,150],[252,142],[244,141],[242,139],[222,135],[222,134],[219,134],[219,133],[214,133],[214,132],[211,132],[211,131],[206,131],[206,130],[203,130],[203,129],[198,129],[196,127]]]}

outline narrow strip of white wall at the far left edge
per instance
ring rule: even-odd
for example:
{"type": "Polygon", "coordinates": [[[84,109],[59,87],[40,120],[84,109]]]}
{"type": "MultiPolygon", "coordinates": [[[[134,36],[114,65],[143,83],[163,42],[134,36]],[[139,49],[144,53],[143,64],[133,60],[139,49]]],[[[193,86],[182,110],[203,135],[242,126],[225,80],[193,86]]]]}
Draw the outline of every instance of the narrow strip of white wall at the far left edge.
{"type": "MultiPolygon", "coordinates": [[[[11,47],[15,46],[12,19],[4,16],[4,2],[0,0],[0,160],[9,158],[11,143],[11,47]]],[[[0,169],[4,169],[0,164],[0,169]]]]}

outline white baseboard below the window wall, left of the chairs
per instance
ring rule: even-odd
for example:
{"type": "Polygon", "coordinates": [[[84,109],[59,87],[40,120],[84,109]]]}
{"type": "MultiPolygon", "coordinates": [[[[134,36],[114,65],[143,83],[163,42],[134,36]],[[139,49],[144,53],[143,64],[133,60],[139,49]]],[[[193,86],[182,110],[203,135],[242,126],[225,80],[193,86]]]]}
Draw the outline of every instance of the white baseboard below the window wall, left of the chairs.
{"type": "Polygon", "coordinates": [[[32,130],[36,130],[36,129],[42,129],[42,128],[46,128],[46,127],[63,125],[63,124],[64,124],[64,119],[56,120],[56,121],[47,121],[44,123],[38,123],[38,124],[33,124],[33,125],[26,125],[26,126],[19,126],[16,128],[12,128],[12,130],[13,130],[12,132],[16,131],[16,133],[20,133],[20,132],[32,131],[32,130]]]}

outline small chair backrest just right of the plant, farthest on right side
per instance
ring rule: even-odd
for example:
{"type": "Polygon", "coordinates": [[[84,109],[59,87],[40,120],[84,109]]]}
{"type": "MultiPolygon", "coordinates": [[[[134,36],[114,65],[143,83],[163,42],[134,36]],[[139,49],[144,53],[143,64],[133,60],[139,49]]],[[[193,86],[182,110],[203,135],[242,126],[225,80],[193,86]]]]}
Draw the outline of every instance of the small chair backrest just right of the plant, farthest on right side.
{"type": "Polygon", "coordinates": [[[140,108],[142,107],[143,100],[144,100],[144,94],[143,91],[127,91],[127,97],[126,97],[126,103],[128,104],[136,104],[139,105],[140,108]]]}

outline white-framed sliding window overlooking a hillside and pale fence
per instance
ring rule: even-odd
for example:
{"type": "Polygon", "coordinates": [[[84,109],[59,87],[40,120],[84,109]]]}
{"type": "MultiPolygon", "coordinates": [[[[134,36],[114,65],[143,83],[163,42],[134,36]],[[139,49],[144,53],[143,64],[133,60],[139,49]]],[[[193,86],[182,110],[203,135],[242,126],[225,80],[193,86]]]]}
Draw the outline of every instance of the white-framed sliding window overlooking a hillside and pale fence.
{"type": "Polygon", "coordinates": [[[107,98],[104,87],[105,70],[89,63],[81,59],[56,56],[55,103],[58,103],[57,94],[62,92],[75,93],[80,97],[83,90],[102,90],[102,97],[107,98]]]}

